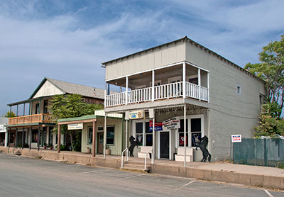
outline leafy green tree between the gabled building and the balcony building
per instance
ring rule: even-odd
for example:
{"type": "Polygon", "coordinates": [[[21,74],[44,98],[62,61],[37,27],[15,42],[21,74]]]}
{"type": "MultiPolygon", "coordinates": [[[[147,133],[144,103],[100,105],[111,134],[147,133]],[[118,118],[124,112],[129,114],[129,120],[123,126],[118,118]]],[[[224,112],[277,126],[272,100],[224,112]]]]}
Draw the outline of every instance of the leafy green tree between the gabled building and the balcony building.
{"type": "MultiPolygon", "coordinates": [[[[95,110],[104,108],[102,105],[84,103],[82,96],[78,94],[55,95],[52,101],[54,120],[92,115],[95,110]]],[[[58,133],[58,127],[55,127],[53,132],[58,133]]],[[[61,132],[70,135],[70,144],[72,150],[75,150],[77,130],[67,130],[67,125],[62,125],[61,132]]]]}

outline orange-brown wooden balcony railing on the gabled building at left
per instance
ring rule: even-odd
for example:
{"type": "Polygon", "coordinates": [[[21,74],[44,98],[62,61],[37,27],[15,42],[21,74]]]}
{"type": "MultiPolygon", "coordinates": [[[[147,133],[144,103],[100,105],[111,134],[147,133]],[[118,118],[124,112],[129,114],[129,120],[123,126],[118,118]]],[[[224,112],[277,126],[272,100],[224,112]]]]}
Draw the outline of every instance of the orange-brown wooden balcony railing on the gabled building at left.
{"type": "Polygon", "coordinates": [[[9,125],[19,125],[27,123],[53,123],[52,114],[39,113],[29,116],[18,116],[9,118],[9,125]]]}

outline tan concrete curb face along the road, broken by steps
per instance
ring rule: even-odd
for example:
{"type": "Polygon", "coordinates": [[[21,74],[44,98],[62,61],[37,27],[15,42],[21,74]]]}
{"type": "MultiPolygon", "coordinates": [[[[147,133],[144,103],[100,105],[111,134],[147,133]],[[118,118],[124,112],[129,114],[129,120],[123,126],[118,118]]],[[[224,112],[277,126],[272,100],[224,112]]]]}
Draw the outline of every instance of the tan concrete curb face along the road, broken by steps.
{"type": "MultiPolygon", "coordinates": [[[[38,150],[20,150],[10,147],[0,147],[0,151],[13,154],[13,150],[19,150],[26,157],[42,157],[48,160],[60,162],[70,162],[77,164],[92,165],[94,167],[108,167],[112,169],[120,169],[121,159],[103,159],[91,157],[89,155],[80,155],[72,153],[57,153],[55,151],[38,151],[38,150]]],[[[275,188],[284,190],[284,176],[268,176],[259,174],[245,174],[236,171],[222,171],[212,169],[198,169],[195,167],[177,167],[163,164],[152,164],[151,172],[155,174],[181,176],[194,179],[202,179],[206,181],[222,181],[232,184],[244,184],[246,186],[259,186],[266,188],[275,188]]]]}

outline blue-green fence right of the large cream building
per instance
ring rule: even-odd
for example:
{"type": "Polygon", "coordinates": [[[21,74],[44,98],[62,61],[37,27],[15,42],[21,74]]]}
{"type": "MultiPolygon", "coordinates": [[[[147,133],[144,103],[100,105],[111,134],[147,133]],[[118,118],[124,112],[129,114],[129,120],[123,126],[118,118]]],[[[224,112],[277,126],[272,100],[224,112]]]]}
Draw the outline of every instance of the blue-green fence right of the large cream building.
{"type": "Polygon", "coordinates": [[[284,165],[284,140],[280,138],[242,139],[233,144],[234,164],[278,167],[284,165]]]}

